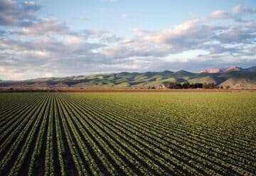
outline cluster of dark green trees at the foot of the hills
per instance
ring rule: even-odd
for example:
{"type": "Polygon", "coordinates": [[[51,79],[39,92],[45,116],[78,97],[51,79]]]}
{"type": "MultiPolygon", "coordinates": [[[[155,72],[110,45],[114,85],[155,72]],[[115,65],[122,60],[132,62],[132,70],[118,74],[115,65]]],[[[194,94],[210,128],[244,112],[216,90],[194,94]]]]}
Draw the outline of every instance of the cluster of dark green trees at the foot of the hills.
{"type": "Polygon", "coordinates": [[[223,89],[223,87],[218,87],[214,82],[209,82],[209,83],[183,82],[183,84],[170,82],[168,84],[165,84],[165,87],[169,89],[223,89]]]}

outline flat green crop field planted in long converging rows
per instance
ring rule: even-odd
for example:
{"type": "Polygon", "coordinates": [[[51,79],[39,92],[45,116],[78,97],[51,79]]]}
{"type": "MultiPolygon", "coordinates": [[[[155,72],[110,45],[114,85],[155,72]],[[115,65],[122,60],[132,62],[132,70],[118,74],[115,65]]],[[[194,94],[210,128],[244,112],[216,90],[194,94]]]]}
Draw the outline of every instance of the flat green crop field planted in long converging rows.
{"type": "Polygon", "coordinates": [[[256,175],[255,92],[0,94],[0,175],[256,175]]]}

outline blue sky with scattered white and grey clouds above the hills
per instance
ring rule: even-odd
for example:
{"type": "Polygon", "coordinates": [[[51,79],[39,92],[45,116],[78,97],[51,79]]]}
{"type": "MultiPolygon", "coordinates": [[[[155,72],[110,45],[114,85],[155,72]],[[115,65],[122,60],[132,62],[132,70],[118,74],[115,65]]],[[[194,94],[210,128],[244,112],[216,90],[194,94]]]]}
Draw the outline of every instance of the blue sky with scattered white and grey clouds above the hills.
{"type": "Polygon", "coordinates": [[[256,65],[256,1],[0,0],[0,79],[256,65]]]}

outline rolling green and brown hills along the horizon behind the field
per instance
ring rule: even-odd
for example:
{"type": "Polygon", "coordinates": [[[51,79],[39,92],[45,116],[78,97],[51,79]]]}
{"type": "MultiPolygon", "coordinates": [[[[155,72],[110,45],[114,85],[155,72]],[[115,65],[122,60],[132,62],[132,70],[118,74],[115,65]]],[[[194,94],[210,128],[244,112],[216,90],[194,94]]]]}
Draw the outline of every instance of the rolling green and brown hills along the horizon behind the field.
{"type": "Polygon", "coordinates": [[[169,83],[210,83],[230,88],[256,89],[256,67],[206,69],[197,73],[178,72],[119,72],[111,74],[80,75],[73,77],[46,77],[24,81],[0,81],[0,89],[110,89],[110,88],[164,88],[169,83]]]}

